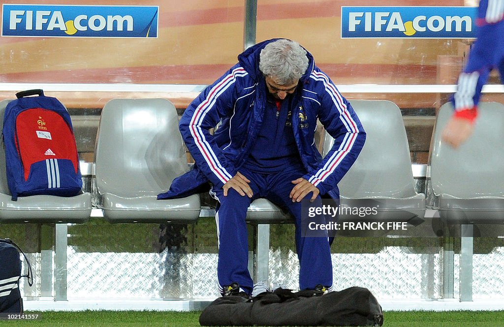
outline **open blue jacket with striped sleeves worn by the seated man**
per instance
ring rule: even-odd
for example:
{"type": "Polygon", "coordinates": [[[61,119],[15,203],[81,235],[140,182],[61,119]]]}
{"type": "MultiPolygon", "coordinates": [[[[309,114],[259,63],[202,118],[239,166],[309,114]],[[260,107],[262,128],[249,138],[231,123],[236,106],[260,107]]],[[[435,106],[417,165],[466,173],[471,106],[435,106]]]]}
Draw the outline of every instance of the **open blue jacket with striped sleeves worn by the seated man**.
{"type": "MultiPolygon", "coordinates": [[[[196,165],[176,178],[158,199],[186,197],[222,187],[248,157],[263,122],[267,88],[259,54],[268,40],[249,47],[238,63],[208,86],[184,111],[179,129],[196,165]],[[215,127],[217,126],[217,127],[215,127]],[[214,135],[209,129],[215,127],[214,135]]],[[[307,53],[309,65],[293,94],[292,126],[305,179],[321,194],[339,198],[338,182],[356,160],[365,132],[350,103],[307,53]],[[295,114],[294,114],[295,113],[295,114]],[[315,145],[317,119],[335,139],[323,159],[315,145]]],[[[267,151],[268,149],[265,149],[267,151]]]]}

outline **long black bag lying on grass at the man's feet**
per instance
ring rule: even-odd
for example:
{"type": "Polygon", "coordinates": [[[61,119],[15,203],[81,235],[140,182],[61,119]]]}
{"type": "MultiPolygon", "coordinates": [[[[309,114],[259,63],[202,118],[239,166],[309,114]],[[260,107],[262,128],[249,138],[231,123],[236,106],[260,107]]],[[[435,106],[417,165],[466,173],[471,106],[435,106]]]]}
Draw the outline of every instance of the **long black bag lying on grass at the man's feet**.
{"type": "Polygon", "coordinates": [[[368,289],[313,296],[278,289],[246,300],[220,297],[201,314],[202,326],[381,326],[382,307],[368,289]]]}

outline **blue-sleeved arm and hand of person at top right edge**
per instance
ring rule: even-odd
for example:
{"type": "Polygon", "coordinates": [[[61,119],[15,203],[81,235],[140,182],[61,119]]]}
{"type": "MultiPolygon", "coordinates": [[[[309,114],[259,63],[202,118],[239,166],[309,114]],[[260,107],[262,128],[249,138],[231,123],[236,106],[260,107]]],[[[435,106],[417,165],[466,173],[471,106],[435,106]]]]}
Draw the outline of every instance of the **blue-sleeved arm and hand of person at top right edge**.
{"type": "Polygon", "coordinates": [[[443,130],[442,140],[458,148],[472,134],[481,89],[493,69],[504,83],[504,0],[481,0],[477,31],[467,63],[459,76],[452,102],[455,112],[443,130]]]}

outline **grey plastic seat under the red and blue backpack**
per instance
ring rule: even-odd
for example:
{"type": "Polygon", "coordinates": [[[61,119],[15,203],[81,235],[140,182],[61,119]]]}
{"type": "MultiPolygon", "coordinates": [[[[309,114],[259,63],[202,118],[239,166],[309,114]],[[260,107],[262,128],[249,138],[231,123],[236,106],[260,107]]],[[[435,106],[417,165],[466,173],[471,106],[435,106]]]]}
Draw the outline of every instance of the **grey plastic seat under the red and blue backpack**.
{"type": "MultiPolygon", "coordinates": [[[[0,130],[10,99],[0,102],[0,130]]],[[[0,150],[0,222],[1,223],[84,223],[91,216],[91,193],[75,197],[32,195],[11,200],[7,184],[5,151],[0,150]]]]}

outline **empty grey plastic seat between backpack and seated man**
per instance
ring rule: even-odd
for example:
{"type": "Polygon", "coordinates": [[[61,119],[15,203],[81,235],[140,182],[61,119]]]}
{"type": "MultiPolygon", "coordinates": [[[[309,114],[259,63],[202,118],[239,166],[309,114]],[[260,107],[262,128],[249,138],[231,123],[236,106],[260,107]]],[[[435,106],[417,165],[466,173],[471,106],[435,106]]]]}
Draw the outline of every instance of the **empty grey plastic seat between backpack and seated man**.
{"type": "Polygon", "coordinates": [[[178,116],[170,101],[112,99],[105,104],[96,139],[94,189],[107,221],[196,221],[199,194],[156,200],[187,169],[178,116]]]}

